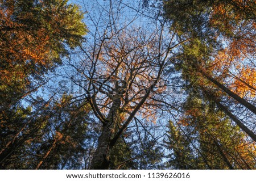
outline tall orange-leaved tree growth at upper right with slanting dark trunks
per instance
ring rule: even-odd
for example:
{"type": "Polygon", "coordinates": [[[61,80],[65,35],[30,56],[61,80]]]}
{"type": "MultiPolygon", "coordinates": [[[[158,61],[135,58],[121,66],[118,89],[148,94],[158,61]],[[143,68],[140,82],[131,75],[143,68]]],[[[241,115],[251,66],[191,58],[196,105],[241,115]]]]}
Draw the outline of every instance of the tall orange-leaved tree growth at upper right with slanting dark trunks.
{"type": "Polygon", "coordinates": [[[181,58],[176,59],[177,68],[183,71],[184,77],[189,74],[192,79],[198,79],[197,85],[204,92],[209,89],[218,92],[204,95],[208,99],[214,96],[217,106],[254,141],[255,134],[249,123],[254,123],[256,113],[255,80],[249,76],[255,69],[255,8],[255,1],[165,3],[166,16],[173,21],[172,29],[180,32],[181,38],[191,37],[183,46],[181,58]],[[180,15],[179,8],[188,11],[180,15]],[[230,111],[227,107],[231,105],[237,108],[230,111]],[[241,105],[243,110],[251,112],[246,112],[248,124],[245,124],[245,115],[235,116],[241,111],[241,105]]]}

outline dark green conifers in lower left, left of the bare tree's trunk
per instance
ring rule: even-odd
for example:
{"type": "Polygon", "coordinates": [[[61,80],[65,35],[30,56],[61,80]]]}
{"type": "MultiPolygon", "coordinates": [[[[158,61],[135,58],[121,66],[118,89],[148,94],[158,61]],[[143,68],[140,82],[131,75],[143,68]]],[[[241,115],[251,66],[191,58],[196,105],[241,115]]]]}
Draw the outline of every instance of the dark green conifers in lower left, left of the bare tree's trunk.
{"type": "MultiPolygon", "coordinates": [[[[86,140],[91,139],[88,124],[93,120],[90,118],[88,104],[71,102],[72,97],[67,95],[48,103],[41,100],[45,106],[28,112],[29,115],[24,116],[24,112],[16,111],[19,120],[14,120],[16,125],[10,121],[1,124],[1,133],[5,133],[1,136],[1,149],[13,140],[13,144],[7,146],[1,154],[1,168],[84,168],[83,160],[88,148],[86,140]],[[24,117],[21,123],[20,117],[24,117]],[[19,136],[14,138],[17,133],[19,136]]],[[[35,104],[39,105],[39,102],[35,104]]]]}

